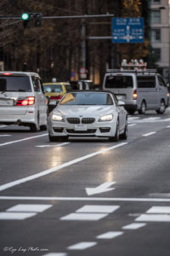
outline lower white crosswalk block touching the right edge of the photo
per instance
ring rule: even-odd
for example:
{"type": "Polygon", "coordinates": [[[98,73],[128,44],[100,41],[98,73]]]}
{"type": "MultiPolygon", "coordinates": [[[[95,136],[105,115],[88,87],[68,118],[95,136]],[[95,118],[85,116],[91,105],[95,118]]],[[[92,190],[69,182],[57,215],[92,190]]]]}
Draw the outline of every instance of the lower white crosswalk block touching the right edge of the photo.
{"type": "Polygon", "coordinates": [[[168,214],[141,214],[135,221],[153,221],[153,222],[170,222],[168,214]]]}

